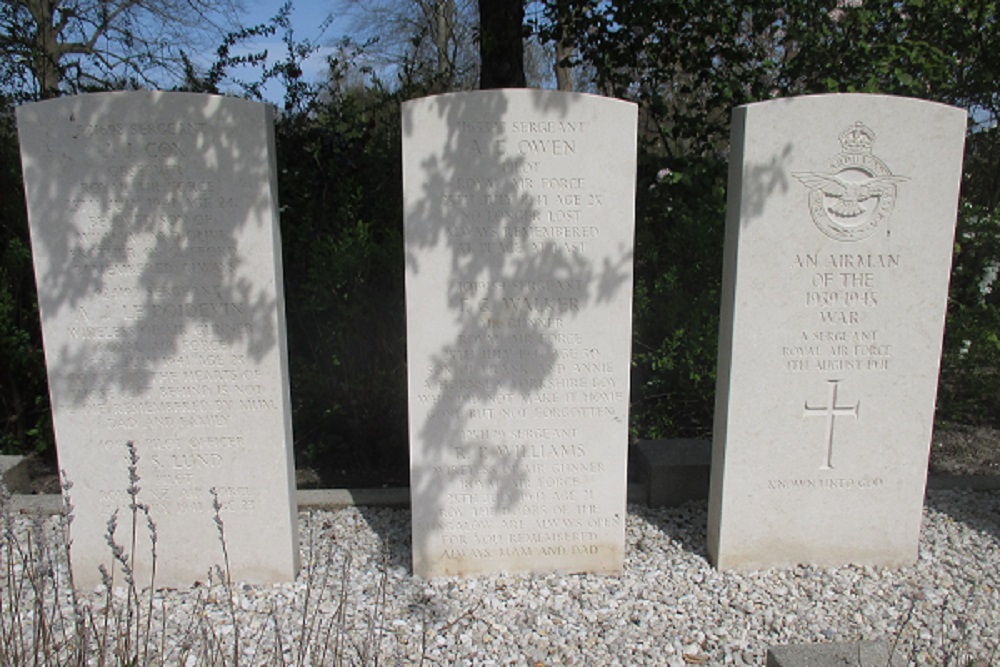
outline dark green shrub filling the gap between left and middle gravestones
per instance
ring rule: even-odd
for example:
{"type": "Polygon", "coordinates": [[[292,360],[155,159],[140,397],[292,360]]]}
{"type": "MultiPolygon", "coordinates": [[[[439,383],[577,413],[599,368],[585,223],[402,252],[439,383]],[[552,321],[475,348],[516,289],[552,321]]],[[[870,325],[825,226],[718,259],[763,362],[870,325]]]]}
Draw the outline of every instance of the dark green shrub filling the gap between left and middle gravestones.
{"type": "Polygon", "coordinates": [[[296,453],[341,484],[407,477],[399,102],[334,89],[276,128],[296,453]]]}

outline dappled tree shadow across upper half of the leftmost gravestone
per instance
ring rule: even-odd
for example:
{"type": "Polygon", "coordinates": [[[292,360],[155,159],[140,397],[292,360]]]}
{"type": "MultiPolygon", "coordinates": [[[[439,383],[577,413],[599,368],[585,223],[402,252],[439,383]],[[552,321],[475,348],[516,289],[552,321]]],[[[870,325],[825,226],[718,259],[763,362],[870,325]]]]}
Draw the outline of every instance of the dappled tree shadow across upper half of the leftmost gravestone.
{"type": "Polygon", "coordinates": [[[266,146],[210,96],[172,94],[176,120],[157,118],[161,96],[56,100],[78,141],[25,152],[41,316],[72,341],[46,350],[50,383],[74,406],[148,394],[185,340],[206,357],[211,341],[250,359],[277,345],[241,245],[271,224],[266,146]],[[81,178],[90,165],[106,168],[81,178]]]}

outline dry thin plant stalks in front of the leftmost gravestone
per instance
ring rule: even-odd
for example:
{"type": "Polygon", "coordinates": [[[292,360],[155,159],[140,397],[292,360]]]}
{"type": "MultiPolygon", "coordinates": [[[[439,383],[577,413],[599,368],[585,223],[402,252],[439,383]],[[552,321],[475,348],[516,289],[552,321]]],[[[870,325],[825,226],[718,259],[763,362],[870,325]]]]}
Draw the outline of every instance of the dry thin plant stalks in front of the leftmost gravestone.
{"type": "Polygon", "coordinates": [[[215,489],[211,495],[220,563],[192,587],[186,602],[171,606],[171,596],[157,590],[156,522],[149,506],[139,501],[136,449],[131,442],[127,449],[128,503],[122,508],[124,519],[118,511],[108,518],[108,563],[101,566],[101,583],[93,591],[80,591],[73,581],[70,481],[63,479],[63,511],[51,517],[19,516],[0,484],[0,665],[378,664],[387,561],[380,566],[376,609],[364,618],[361,640],[352,640],[356,633],[347,627],[354,611],[348,599],[351,559],[344,557],[339,569],[318,567],[318,558],[335,562],[337,555],[333,544],[324,550],[311,534],[309,557],[289,601],[298,606],[291,615],[301,619],[298,627],[290,627],[283,620],[289,616],[279,615],[274,606],[240,613],[240,586],[232,580],[223,506],[215,489]],[[138,581],[134,554],[147,548],[149,578],[138,581]],[[338,572],[339,585],[331,581],[338,572]]]}

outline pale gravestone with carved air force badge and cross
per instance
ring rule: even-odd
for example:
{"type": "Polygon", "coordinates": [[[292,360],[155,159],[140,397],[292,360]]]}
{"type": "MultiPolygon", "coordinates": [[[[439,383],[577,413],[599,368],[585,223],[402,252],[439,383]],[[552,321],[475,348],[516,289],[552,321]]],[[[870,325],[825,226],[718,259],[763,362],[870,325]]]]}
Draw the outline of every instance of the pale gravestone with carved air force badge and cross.
{"type": "Polygon", "coordinates": [[[733,114],[709,554],[917,557],[965,112],[820,95],[733,114]]]}

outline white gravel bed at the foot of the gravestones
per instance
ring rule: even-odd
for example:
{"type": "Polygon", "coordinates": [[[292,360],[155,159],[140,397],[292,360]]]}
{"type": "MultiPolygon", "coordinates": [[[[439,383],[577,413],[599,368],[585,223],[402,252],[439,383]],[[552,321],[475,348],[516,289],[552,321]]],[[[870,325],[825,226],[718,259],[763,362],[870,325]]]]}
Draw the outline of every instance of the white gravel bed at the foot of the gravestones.
{"type": "Polygon", "coordinates": [[[900,570],[719,573],[704,502],[630,507],[621,577],[427,581],[409,574],[408,511],[299,520],[296,583],[157,593],[150,662],[233,664],[235,618],[240,664],[761,665],[770,644],[878,638],[911,664],[1000,664],[1000,492],[930,492],[900,570]]]}

